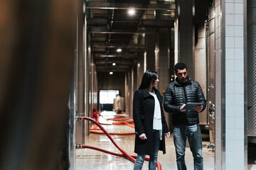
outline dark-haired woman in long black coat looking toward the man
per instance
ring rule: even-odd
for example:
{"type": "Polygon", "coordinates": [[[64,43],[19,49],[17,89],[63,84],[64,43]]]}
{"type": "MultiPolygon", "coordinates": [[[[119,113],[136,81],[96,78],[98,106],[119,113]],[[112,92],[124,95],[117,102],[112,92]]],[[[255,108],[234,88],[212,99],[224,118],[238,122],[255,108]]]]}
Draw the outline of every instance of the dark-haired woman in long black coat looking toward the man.
{"type": "Polygon", "coordinates": [[[135,125],[135,150],[137,159],[134,170],[142,169],[146,154],[149,155],[149,169],[156,169],[157,154],[165,154],[165,140],[170,136],[162,107],[163,96],[156,90],[158,75],[147,70],[139,89],[134,93],[133,119],[135,125]]]}

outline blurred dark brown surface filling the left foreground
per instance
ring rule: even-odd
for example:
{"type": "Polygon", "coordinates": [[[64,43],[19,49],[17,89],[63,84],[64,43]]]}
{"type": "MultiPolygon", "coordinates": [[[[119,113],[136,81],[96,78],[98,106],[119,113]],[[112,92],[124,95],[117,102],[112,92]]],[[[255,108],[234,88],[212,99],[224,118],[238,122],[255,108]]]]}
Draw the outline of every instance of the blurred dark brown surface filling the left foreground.
{"type": "Polygon", "coordinates": [[[0,169],[68,169],[77,3],[0,3],[0,169]]]}

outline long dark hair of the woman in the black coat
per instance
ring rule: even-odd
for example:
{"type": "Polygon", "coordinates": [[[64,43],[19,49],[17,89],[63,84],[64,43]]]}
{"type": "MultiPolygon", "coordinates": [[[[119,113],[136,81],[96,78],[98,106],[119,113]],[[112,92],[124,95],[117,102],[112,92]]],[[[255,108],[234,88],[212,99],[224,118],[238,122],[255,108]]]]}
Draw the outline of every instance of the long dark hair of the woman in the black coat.
{"type": "Polygon", "coordinates": [[[148,89],[152,81],[154,82],[157,79],[157,72],[154,70],[146,70],[143,74],[142,82],[139,86],[139,89],[148,89]]]}

